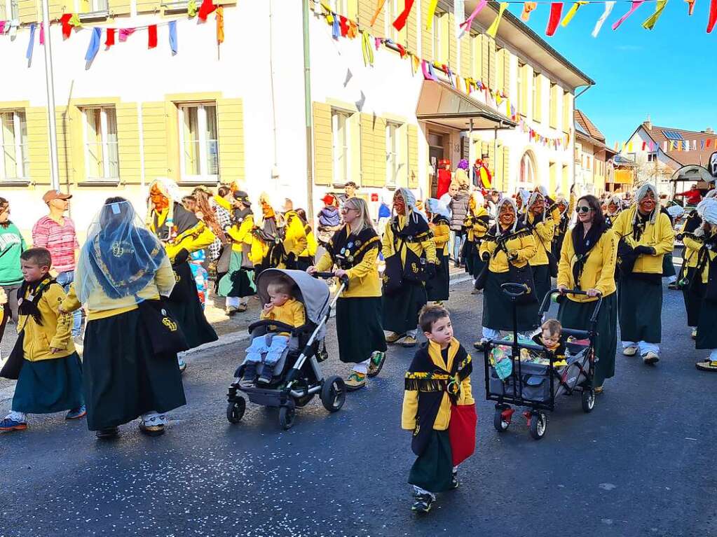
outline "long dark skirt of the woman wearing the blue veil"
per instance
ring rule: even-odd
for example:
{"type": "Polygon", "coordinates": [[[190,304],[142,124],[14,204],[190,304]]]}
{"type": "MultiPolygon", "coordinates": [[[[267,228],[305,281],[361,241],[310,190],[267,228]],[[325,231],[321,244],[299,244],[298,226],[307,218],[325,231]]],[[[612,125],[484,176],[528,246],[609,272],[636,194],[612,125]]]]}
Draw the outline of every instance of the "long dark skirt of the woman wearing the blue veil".
{"type": "Polygon", "coordinates": [[[82,358],[91,431],[186,404],[176,354],[154,354],[138,309],[89,321],[82,358]]]}

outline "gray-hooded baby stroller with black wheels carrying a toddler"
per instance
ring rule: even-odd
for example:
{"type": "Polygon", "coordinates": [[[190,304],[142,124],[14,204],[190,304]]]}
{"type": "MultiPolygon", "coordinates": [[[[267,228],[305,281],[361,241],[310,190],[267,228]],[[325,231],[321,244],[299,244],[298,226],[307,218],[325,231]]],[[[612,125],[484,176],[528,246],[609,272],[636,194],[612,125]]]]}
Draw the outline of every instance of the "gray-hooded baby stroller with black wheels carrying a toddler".
{"type": "MultiPolygon", "coordinates": [[[[257,294],[262,304],[269,301],[267,286],[278,277],[293,281],[293,296],[306,310],[306,324],[293,327],[273,320],[261,320],[249,326],[251,339],[265,337],[270,332],[289,332],[289,344],[274,366],[274,374],[269,384],[257,386],[240,383],[244,375],[244,364],[234,372],[234,382],[229,385],[227,400],[227,420],[238,423],[244,416],[247,402],[239,392],[249,397],[257,405],[279,408],[279,423],[287,430],[294,425],[297,407],[303,407],[319,394],[323,406],[329,412],[337,412],[346,401],[346,386],[341,377],[324,379],[319,363],[328,358],[324,337],[326,321],[336,299],[346,289],[348,279],[341,279],[336,295],[331,297],[328,285],[317,278],[333,278],[328,272],[315,273],[313,276],[303,271],[284,269],[266,269],[257,278],[257,294]]],[[[262,372],[262,364],[257,373],[262,372]]]]}

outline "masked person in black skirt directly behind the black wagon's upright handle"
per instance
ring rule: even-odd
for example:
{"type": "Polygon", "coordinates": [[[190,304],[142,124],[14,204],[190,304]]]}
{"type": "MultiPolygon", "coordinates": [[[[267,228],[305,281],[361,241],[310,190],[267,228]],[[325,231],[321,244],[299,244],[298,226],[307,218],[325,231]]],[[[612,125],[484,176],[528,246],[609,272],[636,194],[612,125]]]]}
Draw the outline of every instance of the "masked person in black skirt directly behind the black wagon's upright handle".
{"type": "MultiPolygon", "coordinates": [[[[483,337],[474,344],[478,350],[483,349],[488,339],[500,337],[501,330],[513,330],[513,304],[500,286],[510,281],[516,283],[516,279],[511,278],[511,267],[513,271],[523,269],[537,251],[533,233],[518,224],[515,202],[511,198],[503,198],[497,209],[498,222],[490,228],[478,250],[483,261],[488,263],[483,287],[483,337]]],[[[523,271],[526,272],[524,275],[532,276],[530,271],[523,271]]],[[[528,292],[531,300],[516,306],[518,332],[529,332],[538,326],[538,301],[534,284],[526,284],[531,288],[528,292]]]]}

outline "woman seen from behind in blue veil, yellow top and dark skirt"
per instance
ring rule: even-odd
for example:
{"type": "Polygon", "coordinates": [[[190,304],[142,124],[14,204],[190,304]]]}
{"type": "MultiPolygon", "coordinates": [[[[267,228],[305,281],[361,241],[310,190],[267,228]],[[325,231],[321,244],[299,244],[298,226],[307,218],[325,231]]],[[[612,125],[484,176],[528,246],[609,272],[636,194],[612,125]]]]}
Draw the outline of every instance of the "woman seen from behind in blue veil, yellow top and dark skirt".
{"type": "MultiPolygon", "coordinates": [[[[132,204],[124,198],[105,200],[61,306],[64,311],[87,307],[82,356],[87,427],[98,438],[117,436],[120,425],[137,417],[141,432],[161,435],[166,412],[186,403],[176,357],[178,349],[186,349],[178,338],[184,326],[161,298],[171,296],[174,287],[168,253],[142,226],[132,204]]],[[[199,304],[196,289],[193,295],[199,304]]]]}

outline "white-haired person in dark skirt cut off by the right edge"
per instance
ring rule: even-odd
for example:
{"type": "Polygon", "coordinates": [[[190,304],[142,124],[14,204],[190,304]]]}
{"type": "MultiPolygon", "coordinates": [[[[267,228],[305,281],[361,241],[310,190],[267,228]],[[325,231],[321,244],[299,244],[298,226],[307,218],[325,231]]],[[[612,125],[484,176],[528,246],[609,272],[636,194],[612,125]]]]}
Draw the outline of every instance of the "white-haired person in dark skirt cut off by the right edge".
{"type": "Polygon", "coordinates": [[[708,357],[695,364],[700,371],[717,372],[717,201],[706,200],[701,208],[703,245],[695,277],[701,279],[704,298],[700,308],[695,349],[706,349],[708,357]]]}

